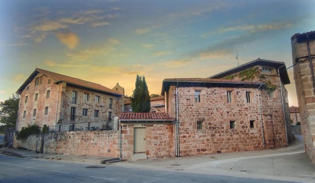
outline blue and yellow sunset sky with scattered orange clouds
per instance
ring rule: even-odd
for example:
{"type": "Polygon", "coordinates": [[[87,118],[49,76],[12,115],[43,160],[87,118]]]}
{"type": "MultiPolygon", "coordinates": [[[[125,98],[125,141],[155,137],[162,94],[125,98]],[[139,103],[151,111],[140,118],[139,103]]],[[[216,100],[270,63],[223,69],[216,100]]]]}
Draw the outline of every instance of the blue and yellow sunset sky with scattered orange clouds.
{"type": "MultiPolygon", "coordinates": [[[[164,78],[210,77],[257,58],[292,65],[295,33],[315,30],[315,1],[11,0],[0,5],[0,101],[41,68],[129,96],[164,78]]],[[[293,69],[286,85],[297,106],[293,69]]]]}

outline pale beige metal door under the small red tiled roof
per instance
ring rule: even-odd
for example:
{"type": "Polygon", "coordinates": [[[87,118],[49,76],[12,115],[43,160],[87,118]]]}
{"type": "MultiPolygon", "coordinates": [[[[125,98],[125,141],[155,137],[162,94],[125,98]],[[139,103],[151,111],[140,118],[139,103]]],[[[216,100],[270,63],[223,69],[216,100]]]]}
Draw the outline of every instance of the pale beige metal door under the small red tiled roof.
{"type": "Polygon", "coordinates": [[[134,152],[146,152],[146,128],[134,128],[134,152]]]}

